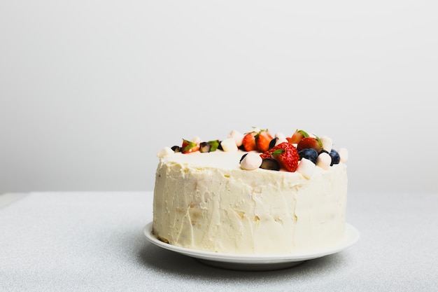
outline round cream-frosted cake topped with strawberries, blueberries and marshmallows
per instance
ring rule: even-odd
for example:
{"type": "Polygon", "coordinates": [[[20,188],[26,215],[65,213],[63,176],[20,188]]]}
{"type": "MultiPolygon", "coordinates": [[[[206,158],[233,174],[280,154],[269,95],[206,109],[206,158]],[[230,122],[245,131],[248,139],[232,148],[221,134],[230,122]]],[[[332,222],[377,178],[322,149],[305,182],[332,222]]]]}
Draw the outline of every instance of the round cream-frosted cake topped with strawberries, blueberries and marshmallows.
{"type": "Polygon", "coordinates": [[[346,148],[327,136],[251,129],[183,139],[157,154],[153,235],[216,253],[278,254],[336,245],[346,228],[346,148]]]}

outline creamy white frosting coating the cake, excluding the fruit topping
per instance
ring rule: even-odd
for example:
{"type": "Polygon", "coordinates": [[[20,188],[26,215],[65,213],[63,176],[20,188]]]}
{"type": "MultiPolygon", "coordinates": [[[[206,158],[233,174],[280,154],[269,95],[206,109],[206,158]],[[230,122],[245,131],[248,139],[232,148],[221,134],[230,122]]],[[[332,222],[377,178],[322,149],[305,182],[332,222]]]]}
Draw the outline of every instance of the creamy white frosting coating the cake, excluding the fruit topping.
{"type": "Polygon", "coordinates": [[[344,237],[346,165],[246,171],[244,152],[173,153],[157,167],[153,232],[169,244],[222,253],[293,253],[344,237]]]}

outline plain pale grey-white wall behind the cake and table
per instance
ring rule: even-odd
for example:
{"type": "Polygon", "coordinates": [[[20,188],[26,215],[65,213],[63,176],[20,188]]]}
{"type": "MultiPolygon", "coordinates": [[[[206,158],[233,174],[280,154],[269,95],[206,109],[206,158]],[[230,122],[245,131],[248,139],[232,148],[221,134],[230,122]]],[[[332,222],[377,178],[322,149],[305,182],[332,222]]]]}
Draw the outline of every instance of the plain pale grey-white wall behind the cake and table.
{"type": "Polygon", "coordinates": [[[437,1],[0,3],[0,193],[152,190],[156,152],[326,134],[353,191],[438,192],[437,1]]]}

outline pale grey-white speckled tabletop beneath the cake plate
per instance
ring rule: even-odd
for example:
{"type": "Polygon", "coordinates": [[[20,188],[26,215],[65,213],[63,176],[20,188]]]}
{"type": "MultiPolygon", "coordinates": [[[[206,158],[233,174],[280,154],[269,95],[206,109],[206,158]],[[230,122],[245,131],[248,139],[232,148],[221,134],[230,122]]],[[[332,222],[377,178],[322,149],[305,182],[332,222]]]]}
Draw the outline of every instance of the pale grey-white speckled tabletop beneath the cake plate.
{"type": "Polygon", "coordinates": [[[0,195],[0,291],[438,291],[438,194],[348,196],[355,245],[248,272],[150,244],[150,191],[0,195]]]}

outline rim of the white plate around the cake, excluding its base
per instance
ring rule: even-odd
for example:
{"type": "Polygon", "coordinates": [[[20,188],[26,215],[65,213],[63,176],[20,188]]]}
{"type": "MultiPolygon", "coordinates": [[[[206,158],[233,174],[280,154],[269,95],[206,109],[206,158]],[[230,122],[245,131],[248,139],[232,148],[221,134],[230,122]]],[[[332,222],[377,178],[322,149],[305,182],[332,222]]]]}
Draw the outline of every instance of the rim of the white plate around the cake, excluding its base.
{"type": "Polygon", "coordinates": [[[175,246],[162,242],[153,235],[153,221],[146,224],[143,227],[143,235],[149,242],[160,246],[163,249],[169,251],[175,251],[177,253],[184,254],[185,256],[191,256],[192,258],[199,258],[202,260],[213,260],[222,263],[245,263],[245,264],[272,264],[272,263],[290,263],[303,260],[311,260],[314,258],[320,258],[328,256],[333,253],[343,251],[350,246],[353,246],[358,242],[360,238],[360,232],[357,228],[349,223],[345,223],[346,232],[344,238],[328,248],[319,249],[317,251],[300,252],[300,253],[266,253],[266,254],[247,254],[247,253],[216,253],[213,251],[202,251],[198,249],[188,249],[181,246],[175,246]]]}

